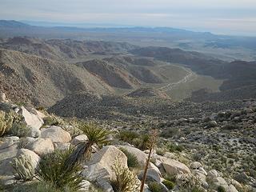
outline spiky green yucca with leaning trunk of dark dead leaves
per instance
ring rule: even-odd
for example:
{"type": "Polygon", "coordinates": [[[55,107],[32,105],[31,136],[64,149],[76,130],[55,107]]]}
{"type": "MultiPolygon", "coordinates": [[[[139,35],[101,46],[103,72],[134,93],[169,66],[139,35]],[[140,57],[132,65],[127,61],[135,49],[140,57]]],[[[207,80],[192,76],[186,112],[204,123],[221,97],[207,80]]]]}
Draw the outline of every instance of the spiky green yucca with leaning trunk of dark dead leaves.
{"type": "Polygon", "coordinates": [[[112,132],[100,128],[92,123],[82,123],[79,126],[79,130],[82,130],[83,134],[86,134],[88,140],[79,142],[75,146],[73,153],[70,154],[70,158],[67,159],[66,166],[72,167],[76,162],[82,162],[90,158],[94,146],[102,147],[108,144],[110,141],[107,136],[112,132]]]}

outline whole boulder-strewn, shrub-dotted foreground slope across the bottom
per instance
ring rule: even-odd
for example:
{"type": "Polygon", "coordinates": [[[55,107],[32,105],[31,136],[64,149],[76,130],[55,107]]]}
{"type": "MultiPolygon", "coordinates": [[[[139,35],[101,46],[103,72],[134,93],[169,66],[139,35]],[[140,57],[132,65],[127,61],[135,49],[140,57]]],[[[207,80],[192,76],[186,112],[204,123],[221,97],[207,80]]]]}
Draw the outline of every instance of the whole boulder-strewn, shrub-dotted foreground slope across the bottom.
{"type": "MultiPolygon", "coordinates": [[[[81,94],[81,98],[96,105],[104,99],[89,93],[81,94]]],[[[155,142],[154,137],[158,142],[150,155],[144,191],[255,190],[255,101],[220,105],[218,107],[224,108],[236,105],[237,110],[209,115],[202,111],[203,116],[190,113],[190,118],[151,118],[149,124],[158,128],[159,136],[149,134],[148,117],[140,113],[137,122],[141,121],[141,127],[138,129],[134,121],[96,121],[96,126],[92,122],[74,122],[26,106],[15,106],[6,100],[5,94],[1,94],[0,102],[0,106],[5,106],[0,108],[1,115],[8,114],[6,120],[1,118],[1,121],[10,122],[8,119],[14,117],[10,118],[13,126],[8,124],[7,131],[0,132],[0,189],[3,191],[55,191],[76,186],[75,191],[118,192],[116,187],[123,185],[122,179],[129,179],[129,187],[136,192],[142,185],[150,153],[147,143],[155,142]],[[95,134],[98,139],[90,140],[95,134]],[[80,147],[91,147],[88,146],[90,141],[105,145],[88,150],[90,158],[82,158],[79,162],[82,166],[66,166],[73,152],[78,157],[80,147]],[[70,146],[74,151],[69,150],[70,146]],[[62,177],[54,177],[54,171],[62,177]],[[65,186],[58,182],[65,182],[65,186]]],[[[186,106],[186,109],[191,108],[186,106]]]]}

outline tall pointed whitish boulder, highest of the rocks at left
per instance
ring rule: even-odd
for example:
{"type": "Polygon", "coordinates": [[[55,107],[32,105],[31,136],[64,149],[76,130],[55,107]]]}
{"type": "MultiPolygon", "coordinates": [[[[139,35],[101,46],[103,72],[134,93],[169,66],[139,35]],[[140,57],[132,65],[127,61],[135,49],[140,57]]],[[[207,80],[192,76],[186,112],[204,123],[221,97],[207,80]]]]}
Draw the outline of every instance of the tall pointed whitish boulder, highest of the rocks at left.
{"type": "Polygon", "coordinates": [[[30,127],[30,136],[33,138],[38,138],[40,136],[40,128],[43,125],[43,120],[38,116],[38,114],[33,114],[26,110],[24,106],[18,111],[24,117],[26,125],[30,127]]]}

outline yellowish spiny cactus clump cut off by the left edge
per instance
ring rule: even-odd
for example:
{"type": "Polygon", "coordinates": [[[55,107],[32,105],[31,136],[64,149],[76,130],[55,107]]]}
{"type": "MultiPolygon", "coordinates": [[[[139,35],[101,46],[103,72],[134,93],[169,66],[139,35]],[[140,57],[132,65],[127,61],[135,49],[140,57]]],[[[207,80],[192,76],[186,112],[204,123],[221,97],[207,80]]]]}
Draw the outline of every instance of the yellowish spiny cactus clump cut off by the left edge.
{"type": "Polygon", "coordinates": [[[6,112],[0,110],[0,137],[10,130],[13,125],[14,117],[11,113],[6,114],[6,112]]]}

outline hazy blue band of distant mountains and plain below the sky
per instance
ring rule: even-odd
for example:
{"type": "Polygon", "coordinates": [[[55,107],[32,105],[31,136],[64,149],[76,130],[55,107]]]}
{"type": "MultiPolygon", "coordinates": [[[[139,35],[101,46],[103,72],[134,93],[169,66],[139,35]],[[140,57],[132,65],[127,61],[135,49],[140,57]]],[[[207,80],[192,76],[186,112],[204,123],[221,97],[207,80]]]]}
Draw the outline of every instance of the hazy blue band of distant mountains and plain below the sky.
{"type": "Polygon", "coordinates": [[[252,37],[216,35],[209,32],[194,32],[170,27],[85,27],[82,24],[61,26],[62,23],[48,23],[46,25],[46,23],[38,24],[37,22],[30,24],[0,20],[0,38],[27,36],[48,39],[70,38],[130,42],[137,46],[163,46],[177,47],[182,50],[196,50],[227,61],[237,59],[256,60],[256,38],[252,37]]]}

